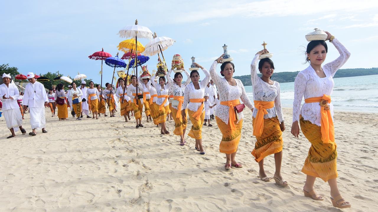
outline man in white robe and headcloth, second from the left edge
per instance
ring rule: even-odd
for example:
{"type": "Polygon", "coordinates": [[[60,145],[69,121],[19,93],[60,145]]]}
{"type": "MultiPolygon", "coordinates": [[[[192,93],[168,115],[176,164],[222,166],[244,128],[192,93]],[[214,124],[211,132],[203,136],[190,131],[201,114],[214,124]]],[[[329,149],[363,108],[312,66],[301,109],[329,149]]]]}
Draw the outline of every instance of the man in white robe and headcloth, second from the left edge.
{"type": "Polygon", "coordinates": [[[43,133],[46,133],[46,118],[45,107],[48,105],[48,97],[45,91],[45,87],[42,83],[37,82],[34,78],[33,72],[29,72],[26,77],[29,83],[25,87],[23,107],[29,107],[30,124],[33,132],[29,132],[29,135],[37,135],[36,129],[42,129],[43,133]]]}

